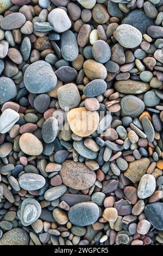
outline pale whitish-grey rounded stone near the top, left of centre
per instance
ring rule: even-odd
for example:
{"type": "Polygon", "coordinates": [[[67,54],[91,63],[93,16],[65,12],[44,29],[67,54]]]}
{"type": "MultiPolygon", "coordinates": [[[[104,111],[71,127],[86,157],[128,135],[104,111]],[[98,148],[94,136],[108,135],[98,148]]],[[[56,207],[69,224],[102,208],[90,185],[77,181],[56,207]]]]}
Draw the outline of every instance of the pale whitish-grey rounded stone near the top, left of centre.
{"type": "Polygon", "coordinates": [[[62,33],[71,27],[71,21],[64,9],[55,8],[48,14],[48,22],[52,23],[54,31],[62,33]]]}

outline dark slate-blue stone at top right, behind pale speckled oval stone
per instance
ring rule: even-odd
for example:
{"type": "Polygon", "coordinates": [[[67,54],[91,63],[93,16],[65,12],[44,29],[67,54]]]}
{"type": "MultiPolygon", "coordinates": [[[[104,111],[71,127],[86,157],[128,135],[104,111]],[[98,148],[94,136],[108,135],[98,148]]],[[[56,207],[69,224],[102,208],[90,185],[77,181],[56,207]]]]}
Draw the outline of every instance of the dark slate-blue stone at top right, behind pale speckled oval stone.
{"type": "Polygon", "coordinates": [[[122,20],[122,24],[131,25],[142,34],[146,34],[148,27],[154,25],[154,19],[149,18],[142,10],[136,9],[128,13],[122,20]]]}

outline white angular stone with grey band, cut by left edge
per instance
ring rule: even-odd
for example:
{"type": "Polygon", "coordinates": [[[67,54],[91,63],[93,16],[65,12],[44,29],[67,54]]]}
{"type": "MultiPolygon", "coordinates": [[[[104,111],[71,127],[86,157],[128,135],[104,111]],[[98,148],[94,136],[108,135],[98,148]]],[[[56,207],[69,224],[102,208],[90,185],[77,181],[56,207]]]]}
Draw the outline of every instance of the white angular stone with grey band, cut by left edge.
{"type": "Polygon", "coordinates": [[[20,115],[13,109],[5,109],[0,117],[0,133],[10,131],[19,118],[20,115]]]}

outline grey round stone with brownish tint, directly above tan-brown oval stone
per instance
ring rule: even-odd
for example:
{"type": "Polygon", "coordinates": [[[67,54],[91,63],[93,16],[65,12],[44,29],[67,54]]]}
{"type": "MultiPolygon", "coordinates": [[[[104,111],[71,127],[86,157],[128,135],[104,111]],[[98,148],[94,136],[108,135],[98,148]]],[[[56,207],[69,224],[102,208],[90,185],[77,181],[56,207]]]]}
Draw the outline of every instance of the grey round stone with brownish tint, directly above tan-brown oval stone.
{"type": "Polygon", "coordinates": [[[97,40],[92,47],[93,58],[100,63],[106,63],[111,57],[109,45],[103,40],[97,40]]]}

